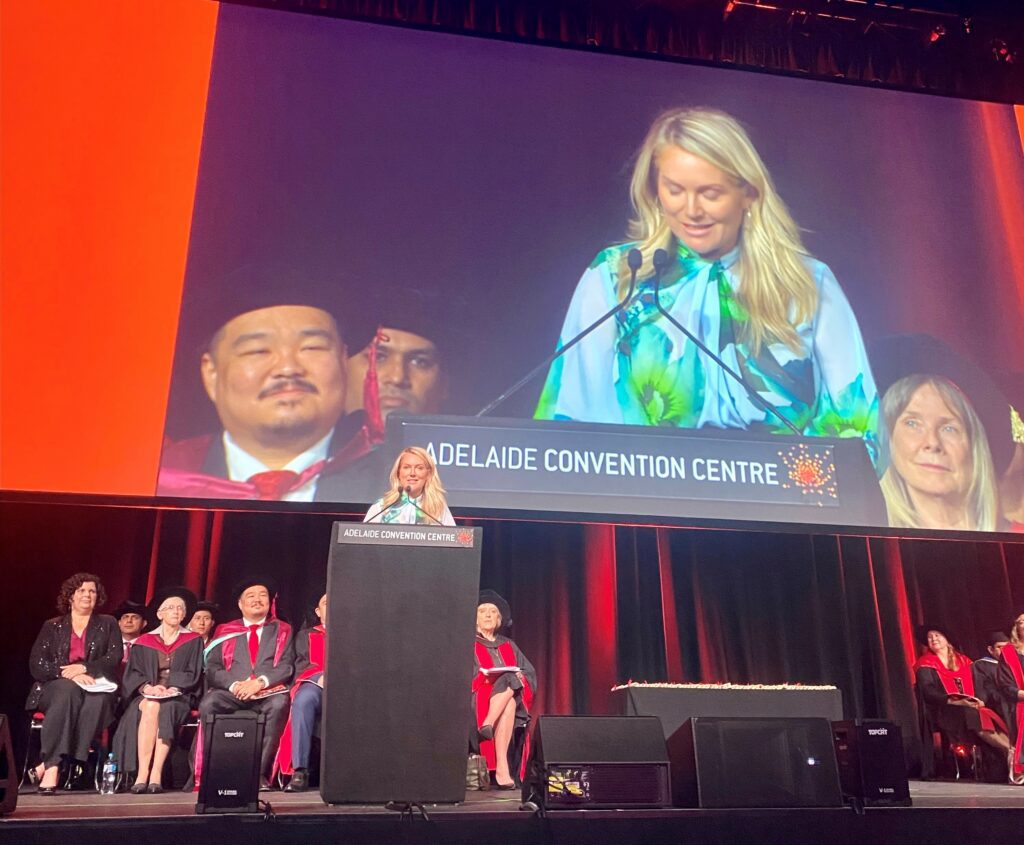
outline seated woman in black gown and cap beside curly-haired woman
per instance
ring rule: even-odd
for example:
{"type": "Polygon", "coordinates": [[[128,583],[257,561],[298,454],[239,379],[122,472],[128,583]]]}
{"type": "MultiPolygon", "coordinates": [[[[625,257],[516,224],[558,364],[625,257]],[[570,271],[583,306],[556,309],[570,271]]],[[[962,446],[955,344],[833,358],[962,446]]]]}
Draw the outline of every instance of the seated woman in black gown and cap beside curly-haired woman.
{"type": "Polygon", "coordinates": [[[135,772],[130,792],[161,793],[167,755],[203,684],[203,637],[188,631],[196,596],[160,590],[150,602],[151,630],[135,640],[121,689],[128,702],[114,736],[114,756],[135,772]]]}

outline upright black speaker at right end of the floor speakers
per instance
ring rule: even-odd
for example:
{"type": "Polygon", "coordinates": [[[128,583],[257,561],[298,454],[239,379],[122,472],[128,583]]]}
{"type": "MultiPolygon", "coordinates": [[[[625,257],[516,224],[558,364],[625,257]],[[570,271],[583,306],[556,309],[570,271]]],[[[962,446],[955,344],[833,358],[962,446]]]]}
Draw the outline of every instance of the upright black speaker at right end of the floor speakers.
{"type": "Polygon", "coordinates": [[[843,795],[866,805],[910,806],[899,726],[882,721],[833,722],[843,795]]]}

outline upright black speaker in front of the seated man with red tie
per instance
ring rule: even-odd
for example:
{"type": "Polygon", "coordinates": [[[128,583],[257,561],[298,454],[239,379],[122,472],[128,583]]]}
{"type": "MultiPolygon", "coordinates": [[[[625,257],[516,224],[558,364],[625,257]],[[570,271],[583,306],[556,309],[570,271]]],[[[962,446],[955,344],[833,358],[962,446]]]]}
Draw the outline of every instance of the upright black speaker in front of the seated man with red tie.
{"type": "Polygon", "coordinates": [[[263,722],[249,710],[206,717],[197,813],[257,811],[263,722]]]}

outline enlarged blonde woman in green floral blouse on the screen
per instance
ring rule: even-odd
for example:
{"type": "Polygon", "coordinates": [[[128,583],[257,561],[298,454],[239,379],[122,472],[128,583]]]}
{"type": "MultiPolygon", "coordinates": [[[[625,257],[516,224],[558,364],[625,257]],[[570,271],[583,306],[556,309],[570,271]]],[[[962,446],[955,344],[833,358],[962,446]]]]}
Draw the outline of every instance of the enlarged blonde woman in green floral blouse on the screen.
{"type": "Polygon", "coordinates": [[[739,123],[707,109],[660,115],[630,196],[629,242],[584,272],[559,346],[624,300],[634,250],[636,293],[556,358],[535,416],[791,431],[774,409],[804,434],[862,437],[877,458],[878,393],[857,320],[831,270],[808,254],[739,123]]]}

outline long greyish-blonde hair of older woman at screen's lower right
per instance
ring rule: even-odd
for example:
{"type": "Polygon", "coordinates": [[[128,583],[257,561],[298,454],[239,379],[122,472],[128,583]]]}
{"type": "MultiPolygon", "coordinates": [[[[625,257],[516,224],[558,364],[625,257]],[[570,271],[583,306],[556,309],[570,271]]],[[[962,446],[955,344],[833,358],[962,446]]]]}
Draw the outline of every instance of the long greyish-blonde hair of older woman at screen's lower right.
{"type": "MultiPolygon", "coordinates": [[[[893,429],[914,394],[922,387],[931,386],[938,391],[942,400],[963,421],[967,428],[968,440],[971,443],[971,483],[965,495],[964,509],[968,518],[968,529],[974,531],[995,531],[998,514],[998,502],[995,488],[995,467],[992,464],[992,454],[988,449],[988,437],[985,427],[981,424],[978,414],[970,399],[961,392],[948,379],[942,376],[914,374],[904,376],[886,390],[882,397],[883,448],[889,453],[893,429]]],[[[893,465],[879,482],[882,495],[886,500],[886,510],[889,513],[889,524],[892,527],[923,529],[918,511],[910,499],[906,481],[893,465]]]]}

